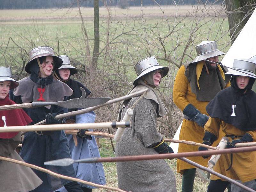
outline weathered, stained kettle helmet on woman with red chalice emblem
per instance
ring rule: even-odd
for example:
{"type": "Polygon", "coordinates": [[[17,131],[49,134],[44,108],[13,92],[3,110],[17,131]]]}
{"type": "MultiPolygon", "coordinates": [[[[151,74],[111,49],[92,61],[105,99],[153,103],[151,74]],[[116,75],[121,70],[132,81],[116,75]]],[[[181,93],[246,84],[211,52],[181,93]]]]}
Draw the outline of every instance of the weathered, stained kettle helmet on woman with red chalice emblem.
{"type": "Polygon", "coordinates": [[[62,60],[59,57],[55,56],[54,49],[49,46],[35,47],[28,52],[28,56],[29,56],[29,61],[25,66],[25,71],[29,74],[31,73],[31,71],[29,69],[30,66],[33,65],[34,60],[36,60],[36,58],[39,58],[39,57],[43,57],[43,56],[52,56],[53,57],[55,63],[54,63],[52,71],[55,71],[62,65],[62,60]]]}

